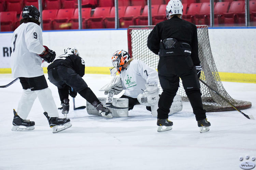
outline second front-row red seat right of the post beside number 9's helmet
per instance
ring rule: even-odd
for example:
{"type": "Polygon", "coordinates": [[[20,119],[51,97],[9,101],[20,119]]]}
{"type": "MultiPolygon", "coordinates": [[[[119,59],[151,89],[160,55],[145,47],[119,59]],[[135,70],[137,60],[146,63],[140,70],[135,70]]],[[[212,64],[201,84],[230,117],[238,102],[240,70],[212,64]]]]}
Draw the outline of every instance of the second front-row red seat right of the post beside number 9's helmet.
{"type": "Polygon", "coordinates": [[[67,30],[70,29],[69,20],[73,17],[75,9],[59,9],[56,18],[53,20],[54,30],[67,30]]]}

